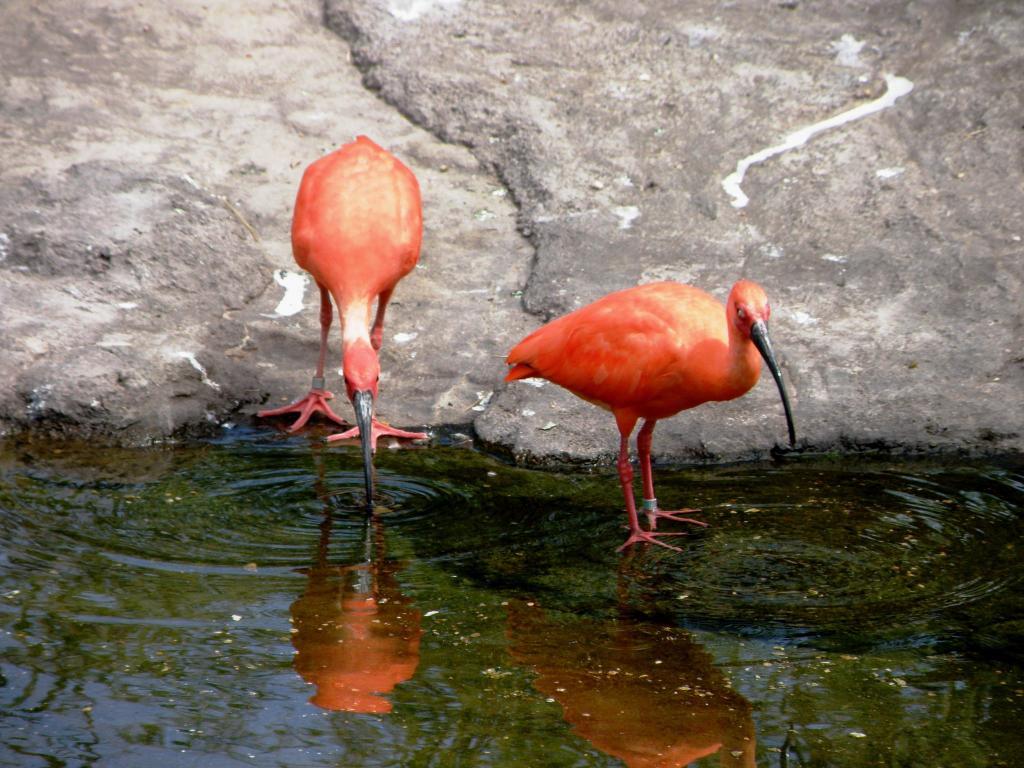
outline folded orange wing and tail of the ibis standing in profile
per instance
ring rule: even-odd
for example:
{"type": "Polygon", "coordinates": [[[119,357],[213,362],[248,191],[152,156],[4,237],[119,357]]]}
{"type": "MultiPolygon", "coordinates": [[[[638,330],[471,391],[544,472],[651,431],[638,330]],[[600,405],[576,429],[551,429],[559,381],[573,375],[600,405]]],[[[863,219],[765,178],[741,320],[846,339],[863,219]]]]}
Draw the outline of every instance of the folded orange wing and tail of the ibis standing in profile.
{"type": "Polygon", "coordinates": [[[608,409],[663,418],[703,402],[724,359],[722,305],[699,289],[655,283],[609,294],[523,339],[507,381],[539,376],[608,409]],[[692,386],[690,386],[692,384],[692,386]]]}

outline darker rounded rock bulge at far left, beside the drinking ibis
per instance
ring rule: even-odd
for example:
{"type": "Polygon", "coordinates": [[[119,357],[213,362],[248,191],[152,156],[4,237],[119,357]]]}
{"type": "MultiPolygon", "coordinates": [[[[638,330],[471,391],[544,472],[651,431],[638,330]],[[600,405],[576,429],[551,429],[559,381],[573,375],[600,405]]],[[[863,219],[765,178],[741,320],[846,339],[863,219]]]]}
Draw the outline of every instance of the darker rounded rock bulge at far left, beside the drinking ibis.
{"type": "Polygon", "coordinates": [[[261,292],[246,275],[265,270],[217,198],[159,169],[89,161],[0,187],[0,208],[9,423],[142,441],[252,396],[205,351],[238,331],[221,314],[261,292]]]}

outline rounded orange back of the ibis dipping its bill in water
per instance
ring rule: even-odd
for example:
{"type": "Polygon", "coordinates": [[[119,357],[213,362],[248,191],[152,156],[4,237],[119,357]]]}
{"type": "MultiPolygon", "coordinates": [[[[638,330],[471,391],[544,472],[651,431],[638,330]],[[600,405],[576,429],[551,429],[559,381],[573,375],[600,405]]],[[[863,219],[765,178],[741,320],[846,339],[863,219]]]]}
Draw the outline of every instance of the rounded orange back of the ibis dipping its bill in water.
{"type": "Polygon", "coordinates": [[[311,164],[292,221],[295,260],[342,294],[376,296],[420,256],[423,217],[416,176],[366,136],[311,164]]]}

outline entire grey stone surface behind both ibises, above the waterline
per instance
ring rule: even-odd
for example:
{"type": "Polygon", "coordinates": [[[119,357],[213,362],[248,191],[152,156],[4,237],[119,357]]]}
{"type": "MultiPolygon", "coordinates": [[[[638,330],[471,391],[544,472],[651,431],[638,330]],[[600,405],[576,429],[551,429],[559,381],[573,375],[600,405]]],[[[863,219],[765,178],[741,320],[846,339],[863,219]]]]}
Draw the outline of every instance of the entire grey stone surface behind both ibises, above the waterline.
{"type": "MultiPolygon", "coordinates": [[[[1024,447],[1016,2],[15,0],[4,22],[8,433],[165,439],[304,393],[315,297],[278,314],[274,271],[293,268],[302,168],[367,133],[424,190],[421,267],[385,333],[393,423],[472,423],[522,460],[610,456],[606,414],[502,384],[503,354],[610,290],[724,298],[748,276],[804,447],[1024,447]],[[912,91],[753,165],[732,205],[739,161],[886,75],[912,91]]],[[[783,440],[766,377],[663,422],[654,447],[783,440]]]]}

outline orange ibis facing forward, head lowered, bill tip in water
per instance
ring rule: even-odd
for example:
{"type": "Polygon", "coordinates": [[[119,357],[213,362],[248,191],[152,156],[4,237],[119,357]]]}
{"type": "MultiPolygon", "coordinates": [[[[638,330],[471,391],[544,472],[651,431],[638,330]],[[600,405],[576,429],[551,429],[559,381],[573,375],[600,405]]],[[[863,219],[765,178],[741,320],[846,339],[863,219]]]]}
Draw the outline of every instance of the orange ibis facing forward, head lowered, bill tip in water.
{"type": "Polygon", "coordinates": [[[420,258],[423,214],[416,176],[397,158],[366,136],[306,168],[295,200],[292,253],[321,291],[321,348],[309,394],[290,406],[260,411],[259,416],[298,413],[291,431],[314,413],[344,425],[328,400],[324,365],[331,330],[331,300],[341,316],[342,369],[356,426],[328,440],[358,435],[362,440],[367,504],[373,501],[373,454],[381,435],[426,437],[394,429],[374,418],[384,336],[384,311],[398,281],[420,258]],[[370,324],[373,303],[377,314],[370,324]]]}

